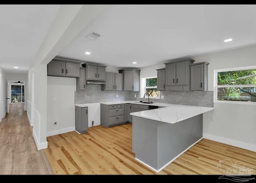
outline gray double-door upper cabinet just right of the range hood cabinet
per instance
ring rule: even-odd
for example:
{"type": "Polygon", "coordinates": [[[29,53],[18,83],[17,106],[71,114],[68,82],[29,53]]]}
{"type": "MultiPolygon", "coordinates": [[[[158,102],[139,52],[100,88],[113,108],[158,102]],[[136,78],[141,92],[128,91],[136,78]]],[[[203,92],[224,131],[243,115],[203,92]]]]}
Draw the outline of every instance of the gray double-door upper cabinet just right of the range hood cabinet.
{"type": "Polygon", "coordinates": [[[101,85],[101,91],[122,91],[123,74],[106,72],[106,84],[101,85]]]}

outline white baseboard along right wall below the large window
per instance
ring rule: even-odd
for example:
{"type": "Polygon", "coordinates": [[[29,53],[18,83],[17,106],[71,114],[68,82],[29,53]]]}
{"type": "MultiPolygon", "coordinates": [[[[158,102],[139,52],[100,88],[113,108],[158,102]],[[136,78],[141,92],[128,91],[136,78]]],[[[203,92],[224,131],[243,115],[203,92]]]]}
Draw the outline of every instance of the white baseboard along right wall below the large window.
{"type": "Polygon", "coordinates": [[[214,140],[217,142],[221,142],[224,144],[228,144],[231,146],[236,146],[238,148],[243,148],[246,150],[250,150],[250,151],[254,151],[256,152],[256,145],[254,144],[248,144],[246,142],[241,142],[241,141],[237,141],[237,140],[232,140],[229,138],[224,138],[224,137],[220,137],[220,136],[215,136],[215,135],[211,135],[211,134],[204,134],[203,133],[203,138],[209,139],[209,140],[214,140]]]}

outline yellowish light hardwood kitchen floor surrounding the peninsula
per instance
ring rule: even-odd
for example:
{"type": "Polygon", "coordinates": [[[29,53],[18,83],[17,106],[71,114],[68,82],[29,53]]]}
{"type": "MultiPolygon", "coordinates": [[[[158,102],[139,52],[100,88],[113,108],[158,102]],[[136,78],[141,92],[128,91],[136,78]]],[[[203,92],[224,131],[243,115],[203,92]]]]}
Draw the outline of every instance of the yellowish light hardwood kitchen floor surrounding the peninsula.
{"type": "MultiPolygon", "coordinates": [[[[230,159],[253,167],[256,153],[202,139],[159,173],[134,158],[132,124],[91,127],[79,135],[68,132],[47,138],[46,156],[54,174],[214,174],[222,175],[218,161],[230,159]]],[[[223,162],[222,168],[230,167],[223,162]]]]}

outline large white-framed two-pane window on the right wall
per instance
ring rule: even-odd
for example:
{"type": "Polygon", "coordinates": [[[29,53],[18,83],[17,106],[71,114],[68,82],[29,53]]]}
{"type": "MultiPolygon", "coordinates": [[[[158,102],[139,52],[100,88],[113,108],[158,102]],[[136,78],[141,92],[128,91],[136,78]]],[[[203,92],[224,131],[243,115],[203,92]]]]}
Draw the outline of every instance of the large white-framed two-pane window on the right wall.
{"type": "Polygon", "coordinates": [[[256,66],[215,70],[215,102],[256,104],[256,66]]]}

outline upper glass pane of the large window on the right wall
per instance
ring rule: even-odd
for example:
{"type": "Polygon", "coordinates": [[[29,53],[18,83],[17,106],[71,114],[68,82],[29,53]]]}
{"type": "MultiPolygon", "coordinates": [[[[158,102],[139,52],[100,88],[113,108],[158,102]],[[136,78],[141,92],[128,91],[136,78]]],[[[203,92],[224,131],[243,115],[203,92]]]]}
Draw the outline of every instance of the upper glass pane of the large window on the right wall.
{"type": "Polygon", "coordinates": [[[256,69],[219,72],[218,85],[256,85],[256,69]]]}

